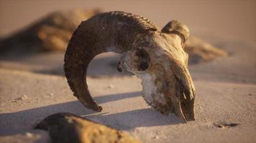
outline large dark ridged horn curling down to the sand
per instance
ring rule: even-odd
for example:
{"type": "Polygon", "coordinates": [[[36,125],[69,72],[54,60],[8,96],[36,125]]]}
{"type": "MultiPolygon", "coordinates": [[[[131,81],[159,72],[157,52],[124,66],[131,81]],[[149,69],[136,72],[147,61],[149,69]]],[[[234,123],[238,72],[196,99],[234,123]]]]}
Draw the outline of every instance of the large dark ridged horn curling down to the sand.
{"type": "Polygon", "coordinates": [[[87,108],[101,112],[88,90],[86,71],[97,54],[131,50],[135,36],[157,28],[149,20],[122,11],[97,14],[83,21],[74,31],[65,52],[64,71],[70,89],[87,108]]]}

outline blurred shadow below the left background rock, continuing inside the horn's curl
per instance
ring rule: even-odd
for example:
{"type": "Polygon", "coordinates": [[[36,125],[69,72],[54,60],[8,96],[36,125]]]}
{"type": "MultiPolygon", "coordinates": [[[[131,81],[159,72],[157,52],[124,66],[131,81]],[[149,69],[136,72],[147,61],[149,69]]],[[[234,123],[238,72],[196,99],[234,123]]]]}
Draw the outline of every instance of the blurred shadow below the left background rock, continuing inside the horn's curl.
{"type": "MultiPolygon", "coordinates": [[[[45,52],[35,54],[24,54],[19,56],[0,56],[0,67],[7,69],[18,69],[32,71],[37,74],[53,74],[64,76],[63,59],[64,52],[45,52]],[[7,64],[6,64],[7,63],[7,64]]],[[[116,67],[119,61],[119,54],[100,54],[91,61],[88,66],[87,76],[126,76],[131,75],[126,71],[119,72],[116,67]],[[103,70],[104,69],[104,70],[103,70]]]]}

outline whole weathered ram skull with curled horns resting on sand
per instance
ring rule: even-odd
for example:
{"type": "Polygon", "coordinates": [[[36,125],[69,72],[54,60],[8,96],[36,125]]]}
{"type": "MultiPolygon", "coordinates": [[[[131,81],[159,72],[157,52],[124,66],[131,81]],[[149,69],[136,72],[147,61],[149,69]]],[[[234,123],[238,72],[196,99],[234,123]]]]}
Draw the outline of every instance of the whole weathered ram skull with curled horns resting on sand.
{"type": "Polygon", "coordinates": [[[142,79],[144,98],[151,107],[194,120],[195,88],[183,51],[188,36],[188,27],[178,21],[170,21],[160,31],[135,14],[97,14],[78,26],[68,44],[64,70],[70,89],[85,107],[101,112],[88,91],[86,71],[94,56],[114,51],[122,54],[119,69],[142,79]]]}

